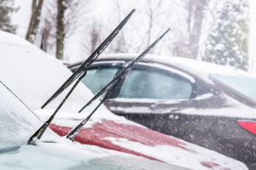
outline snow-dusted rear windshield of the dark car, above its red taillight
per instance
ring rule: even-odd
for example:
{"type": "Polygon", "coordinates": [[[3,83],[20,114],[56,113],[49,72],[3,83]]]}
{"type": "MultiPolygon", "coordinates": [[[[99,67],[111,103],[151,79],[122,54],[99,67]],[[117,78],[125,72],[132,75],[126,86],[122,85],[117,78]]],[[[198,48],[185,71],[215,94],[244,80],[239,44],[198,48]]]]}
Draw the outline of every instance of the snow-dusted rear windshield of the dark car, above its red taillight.
{"type": "Polygon", "coordinates": [[[250,99],[256,99],[256,79],[247,77],[224,77],[212,75],[214,79],[223,82],[230,88],[244,94],[250,99]]]}

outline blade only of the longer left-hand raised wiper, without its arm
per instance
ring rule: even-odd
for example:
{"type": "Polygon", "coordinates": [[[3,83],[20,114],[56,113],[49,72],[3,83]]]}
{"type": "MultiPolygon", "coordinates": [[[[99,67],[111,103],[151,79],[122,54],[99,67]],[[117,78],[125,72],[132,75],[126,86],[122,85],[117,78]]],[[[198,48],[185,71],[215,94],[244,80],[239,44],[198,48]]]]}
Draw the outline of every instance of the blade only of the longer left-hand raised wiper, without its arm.
{"type": "Polygon", "coordinates": [[[90,55],[88,59],[84,61],[84,63],[79,67],[77,71],[73,73],[71,77],[67,79],[66,82],[64,82],[59,88],[55,94],[53,94],[41,107],[44,109],[46,105],[48,105],[53,99],[55,99],[59,94],[61,94],[70,84],[72,84],[83,72],[84,70],[87,70],[88,67],[98,58],[100,54],[102,54],[102,51],[108,47],[108,44],[112,42],[113,38],[116,37],[116,35],[119,33],[119,31],[125,26],[125,23],[131,18],[131,15],[135,12],[135,9],[131,10],[131,13],[128,14],[124,20],[117,26],[113,32],[102,42],[102,44],[96,48],[96,50],[90,55]]]}

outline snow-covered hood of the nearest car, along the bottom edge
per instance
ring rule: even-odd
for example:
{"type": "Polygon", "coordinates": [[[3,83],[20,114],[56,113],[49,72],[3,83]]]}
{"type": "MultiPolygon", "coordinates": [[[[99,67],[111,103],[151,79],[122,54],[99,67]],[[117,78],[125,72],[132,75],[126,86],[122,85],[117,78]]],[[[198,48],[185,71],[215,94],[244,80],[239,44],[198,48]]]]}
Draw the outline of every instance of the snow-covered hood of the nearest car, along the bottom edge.
{"type": "Polygon", "coordinates": [[[186,170],[170,164],[105,150],[85,144],[24,145],[15,152],[1,154],[1,169],[172,169],[186,170]],[[107,167],[107,168],[106,168],[107,167]],[[148,168],[147,168],[148,167],[148,168]]]}

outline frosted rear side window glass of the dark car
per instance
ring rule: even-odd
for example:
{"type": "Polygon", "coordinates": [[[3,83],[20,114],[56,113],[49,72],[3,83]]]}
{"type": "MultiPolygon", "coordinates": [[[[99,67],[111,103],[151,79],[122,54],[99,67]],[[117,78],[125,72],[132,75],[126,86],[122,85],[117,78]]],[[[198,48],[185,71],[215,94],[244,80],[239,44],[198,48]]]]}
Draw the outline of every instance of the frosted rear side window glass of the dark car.
{"type": "Polygon", "coordinates": [[[119,98],[189,99],[192,84],[164,71],[133,69],[125,77],[119,98]]]}

